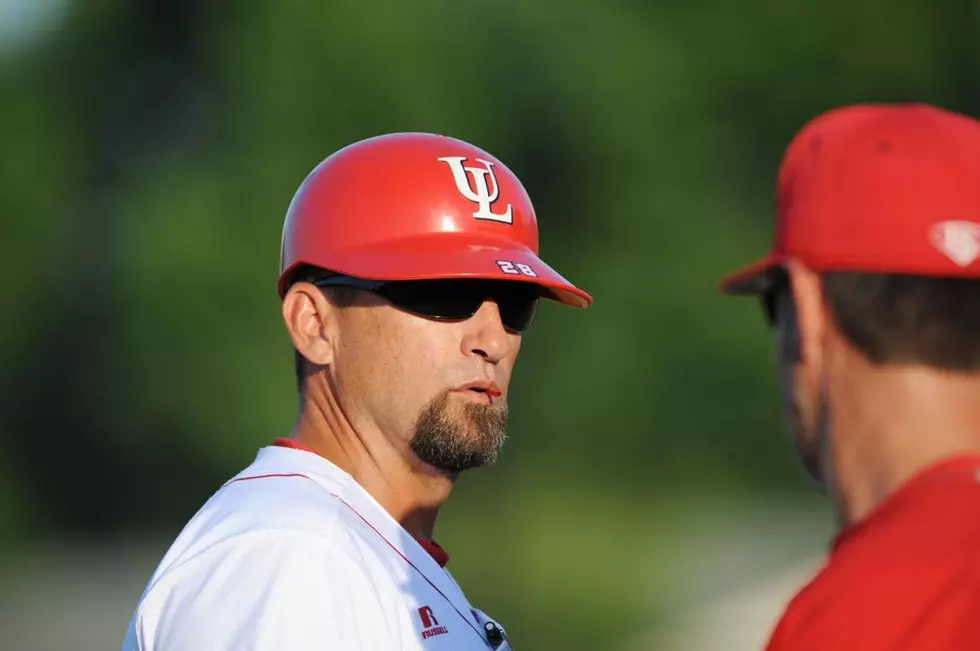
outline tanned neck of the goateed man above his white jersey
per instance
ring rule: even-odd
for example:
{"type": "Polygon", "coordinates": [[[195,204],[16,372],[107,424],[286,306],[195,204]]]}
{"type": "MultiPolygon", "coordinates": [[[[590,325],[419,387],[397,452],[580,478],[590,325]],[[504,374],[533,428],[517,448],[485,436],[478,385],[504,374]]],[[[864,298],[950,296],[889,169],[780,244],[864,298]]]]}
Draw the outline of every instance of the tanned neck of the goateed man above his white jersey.
{"type": "Polygon", "coordinates": [[[356,430],[330,398],[306,399],[290,438],[353,477],[408,533],[432,540],[453,478],[398,449],[381,432],[356,430]]]}

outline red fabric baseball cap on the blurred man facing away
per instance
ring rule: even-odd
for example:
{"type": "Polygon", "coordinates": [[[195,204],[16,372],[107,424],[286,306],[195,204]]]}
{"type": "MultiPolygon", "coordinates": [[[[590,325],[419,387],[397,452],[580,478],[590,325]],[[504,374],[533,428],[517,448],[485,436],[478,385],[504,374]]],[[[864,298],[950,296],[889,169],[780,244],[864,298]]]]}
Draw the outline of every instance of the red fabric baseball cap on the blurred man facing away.
{"type": "Polygon", "coordinates": [[[761,261],[722,281],[758,294],[795,258],[817,271],[980,278],[980,121],[926,104],[833,109],[793,138],[761,261]]]}

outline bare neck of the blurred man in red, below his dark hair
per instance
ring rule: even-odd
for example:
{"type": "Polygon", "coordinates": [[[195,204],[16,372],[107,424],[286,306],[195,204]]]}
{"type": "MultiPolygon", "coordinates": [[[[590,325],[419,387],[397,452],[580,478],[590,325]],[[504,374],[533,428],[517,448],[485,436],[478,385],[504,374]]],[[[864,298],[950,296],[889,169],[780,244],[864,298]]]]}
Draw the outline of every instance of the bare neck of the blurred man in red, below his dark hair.
{"type": "Polygon", "coordinates": [[[833,489],[845,525],[862,521],[913,475],[980,454],[980,378],[869,367],[831,396],[833,489]]]}

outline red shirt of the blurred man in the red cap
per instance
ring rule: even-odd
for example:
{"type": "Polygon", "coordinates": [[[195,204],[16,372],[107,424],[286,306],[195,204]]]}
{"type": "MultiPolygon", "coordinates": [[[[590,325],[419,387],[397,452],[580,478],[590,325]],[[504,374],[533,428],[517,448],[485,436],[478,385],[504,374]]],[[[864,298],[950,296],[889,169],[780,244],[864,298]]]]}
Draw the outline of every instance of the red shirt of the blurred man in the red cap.
{"type": "Polygon", "coordinates": [[[843,531],[767,651],[980,649],[980,456],[936,464],[843,531]]]}

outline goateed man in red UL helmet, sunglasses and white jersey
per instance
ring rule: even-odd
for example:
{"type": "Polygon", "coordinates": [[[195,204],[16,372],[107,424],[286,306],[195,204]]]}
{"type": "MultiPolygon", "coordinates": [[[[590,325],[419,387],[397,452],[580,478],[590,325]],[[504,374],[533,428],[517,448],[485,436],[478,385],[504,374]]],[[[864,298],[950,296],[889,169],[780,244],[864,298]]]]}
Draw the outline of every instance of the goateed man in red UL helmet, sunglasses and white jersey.
{"type": "Polygon", "coordinates": [[[300,411],[191,519],[124,651],[510,648],[432,538],[505,439],[539,298],[591,298],[538,257],[517,177],[421,133],[350,145],[286,215],[278,283],[300,411]]]}

